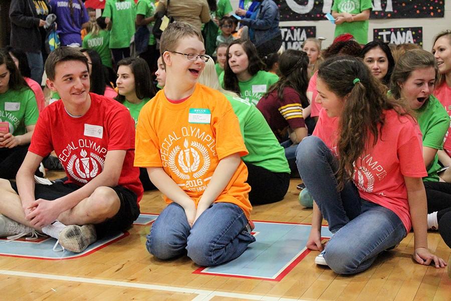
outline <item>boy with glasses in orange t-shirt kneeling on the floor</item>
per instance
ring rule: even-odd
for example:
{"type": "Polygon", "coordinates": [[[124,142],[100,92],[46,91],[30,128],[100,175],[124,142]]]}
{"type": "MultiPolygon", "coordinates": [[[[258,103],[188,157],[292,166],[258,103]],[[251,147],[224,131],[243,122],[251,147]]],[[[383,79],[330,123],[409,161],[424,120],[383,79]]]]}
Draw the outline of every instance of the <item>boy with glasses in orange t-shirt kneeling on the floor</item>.
{"type": "Polygon", "coordinates": [[[169,205],[153,223],[147,250],[169,259],[187,251],[197,264],[233,260],[255,241],[246,183],[248,154],[238,118],[218,91],[197,84],[209,59],[200,32],[171,23],[160,51],[166,85],[142,108],[135,163],[169,205]]]}

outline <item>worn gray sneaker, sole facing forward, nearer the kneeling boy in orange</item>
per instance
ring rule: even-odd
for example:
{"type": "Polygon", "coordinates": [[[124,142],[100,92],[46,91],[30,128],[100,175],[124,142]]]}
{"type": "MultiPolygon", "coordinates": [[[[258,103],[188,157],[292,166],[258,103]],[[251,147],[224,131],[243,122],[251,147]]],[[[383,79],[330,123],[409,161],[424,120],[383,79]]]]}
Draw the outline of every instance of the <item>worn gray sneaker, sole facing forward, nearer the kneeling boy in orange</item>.
{"type": "Polygon", "coordinates": [[[60,245],[74,253],[83,252],[96,240],[97,234],[94,225],[70,225],[65,227],[58,237],[60,245]]]}

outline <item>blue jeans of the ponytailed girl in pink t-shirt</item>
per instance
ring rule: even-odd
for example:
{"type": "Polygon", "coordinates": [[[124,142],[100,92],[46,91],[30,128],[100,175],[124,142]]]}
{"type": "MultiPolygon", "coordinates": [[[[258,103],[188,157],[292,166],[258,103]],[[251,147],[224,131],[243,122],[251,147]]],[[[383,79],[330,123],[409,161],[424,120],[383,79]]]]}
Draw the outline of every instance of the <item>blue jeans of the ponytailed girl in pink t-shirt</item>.
{"type": "Polygon", "coordinates": [[[337,190],[337,161],[320,138],[309,136],[299,143],[296,164],[334,233],[324,258],[336,273],[366,270],[379,253],[398,244],[407,234],[393,211],[361,199],[352,181],[341,192],[337,190]]]}

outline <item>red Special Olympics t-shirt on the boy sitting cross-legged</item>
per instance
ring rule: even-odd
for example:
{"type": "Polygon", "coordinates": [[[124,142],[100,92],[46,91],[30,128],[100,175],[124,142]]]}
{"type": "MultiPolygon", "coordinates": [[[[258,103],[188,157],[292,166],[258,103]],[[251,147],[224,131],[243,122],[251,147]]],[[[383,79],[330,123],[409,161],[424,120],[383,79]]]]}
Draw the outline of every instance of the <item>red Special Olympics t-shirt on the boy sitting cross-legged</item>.
{"type": "Polygon", "coordinates": [[[89,93],[91,106],[81,117],[72,117],[62,101],[46,107],[39,115],[29,151],[46,157],[52,150],[69,178],[80,186],[99,175],[109,150],[126,150],[118,185],[133,191],[138,202],[143,188],[135,157],[135,122],[119,102],[89,93]]]}

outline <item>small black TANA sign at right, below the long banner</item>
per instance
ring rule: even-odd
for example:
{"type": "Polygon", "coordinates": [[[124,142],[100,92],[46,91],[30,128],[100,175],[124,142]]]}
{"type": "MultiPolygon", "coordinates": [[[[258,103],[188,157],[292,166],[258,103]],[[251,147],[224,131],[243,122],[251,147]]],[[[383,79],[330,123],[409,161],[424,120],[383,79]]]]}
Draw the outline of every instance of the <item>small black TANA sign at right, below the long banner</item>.
{"type": "Polygon", "coordinates": [[[384,43],[411,43],[423,47],[422,27],[377,28],[373,30],[373,40],[384,43]]]}

